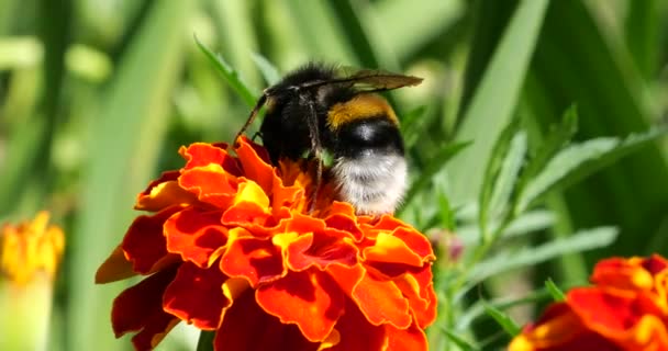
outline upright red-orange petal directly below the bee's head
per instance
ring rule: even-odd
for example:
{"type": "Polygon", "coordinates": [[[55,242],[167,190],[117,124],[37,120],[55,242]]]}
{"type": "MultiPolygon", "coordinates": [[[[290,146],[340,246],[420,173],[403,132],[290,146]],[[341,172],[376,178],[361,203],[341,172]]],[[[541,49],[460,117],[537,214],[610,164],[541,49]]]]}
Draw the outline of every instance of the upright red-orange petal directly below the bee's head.
{"type": "Polygon", "coordinates": [[[269,193],[272,189],[274,178],[278,178],[274,172],[274,167],[268,161],[268,154],[265,149],[255,147],[247,138],[241,138],[236,155],[244,170],[244,176],[256,182],[265,192],[269,193]]]}

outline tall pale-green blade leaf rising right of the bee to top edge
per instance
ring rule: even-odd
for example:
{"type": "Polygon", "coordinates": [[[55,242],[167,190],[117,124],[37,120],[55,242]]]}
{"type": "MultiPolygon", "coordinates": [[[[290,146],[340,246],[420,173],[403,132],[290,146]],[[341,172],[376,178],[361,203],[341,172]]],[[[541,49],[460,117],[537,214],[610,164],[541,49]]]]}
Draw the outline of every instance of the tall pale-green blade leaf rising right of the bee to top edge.
{"type": "Polygon", "coordinates": [[[479,195],[485,162],[503,127],[511,120],[524,82],[548,1],[521,1],[496,48],[471,103],[464,113],[456,140],[475,140],[448,165],[450,201],[467,203],[479,195]]]}

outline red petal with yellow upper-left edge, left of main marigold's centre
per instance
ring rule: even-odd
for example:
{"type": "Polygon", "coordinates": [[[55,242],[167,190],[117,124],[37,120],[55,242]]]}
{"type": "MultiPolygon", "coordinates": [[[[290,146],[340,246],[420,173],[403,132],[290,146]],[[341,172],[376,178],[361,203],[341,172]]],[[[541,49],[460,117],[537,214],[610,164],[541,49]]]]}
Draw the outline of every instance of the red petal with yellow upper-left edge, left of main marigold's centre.
{"type": "Polygon", "coordinates": [[[230,230],[227,249],[220,267],[229,276],[247,279],[254,288],[287,273],[282,256],[271,240],[252,237],[243,228],[230,230]]]}

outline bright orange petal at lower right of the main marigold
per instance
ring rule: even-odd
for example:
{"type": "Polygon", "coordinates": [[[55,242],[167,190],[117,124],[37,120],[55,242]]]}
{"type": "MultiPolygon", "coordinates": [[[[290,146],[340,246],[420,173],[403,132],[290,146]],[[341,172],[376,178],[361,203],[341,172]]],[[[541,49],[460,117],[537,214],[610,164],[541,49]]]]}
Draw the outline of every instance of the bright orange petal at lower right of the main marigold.
{"type": "Polygon", "coordinates": [[[375,326],[391,324],[405,329],[411,325],[409,302],[391,281],[377,280],[366,272],[350,297],[375,326]]]}

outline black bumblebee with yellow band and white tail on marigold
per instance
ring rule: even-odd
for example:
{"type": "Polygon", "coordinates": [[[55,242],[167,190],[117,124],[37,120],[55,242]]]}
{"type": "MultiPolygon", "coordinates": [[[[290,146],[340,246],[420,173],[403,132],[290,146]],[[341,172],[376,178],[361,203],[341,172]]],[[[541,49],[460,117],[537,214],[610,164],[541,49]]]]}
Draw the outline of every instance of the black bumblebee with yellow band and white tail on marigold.
{"type": "Polygon", "coordinates": [[[421,81],[311,63],[263,92],[237,137],[266,105],[259,135],[274,165],[281,158],[315,158],[318,192],[327,152],[332,165],[325,176],[333,181],[338,200],[353,204],[358,214],[391,213],[404,195],[408,169],[399,120],[376,92],[421,81]]]}

